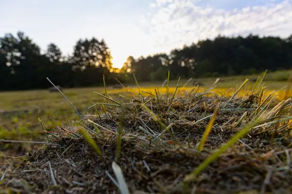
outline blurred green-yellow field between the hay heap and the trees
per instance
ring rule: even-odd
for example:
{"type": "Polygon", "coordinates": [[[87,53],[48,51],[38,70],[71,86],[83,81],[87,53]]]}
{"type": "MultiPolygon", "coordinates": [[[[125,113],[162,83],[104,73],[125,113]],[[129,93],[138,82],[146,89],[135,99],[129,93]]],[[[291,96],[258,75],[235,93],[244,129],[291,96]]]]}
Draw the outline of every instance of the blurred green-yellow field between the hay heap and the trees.
{"type": "MultiPolygon", "coordinates": [[[[268,72],[264,79],[267,90],[277,91],[286,86],[289,74],[289,71],[268,72]]],[[[258,75],[223,77],[219,79],[214,91],[231,96],[245,78],[250,79],[245,86],[245,90],[247,90],[252,88],[255,83],[253,80],[257,77],[258,75]]],[[[201,82],[202,88],[208,88],[215,80],[216,78],[204,78],[195,81],[201,82]]],[[[181,80],[179,86],[182,87],[186,82],[187,80],[181,80]]],[[[193,83],[194,80],[189,81],[184,89],[190,89],[193,83]]],[[[153,94],[154,88],[162,86],[162,84],[163,82],[139,83],[141,90],[148,92],[152,90],[153,94]]],[[[176,80],[170,81],[170,91],[174,91],[176,85],[176,80]]],[[[107,90],[108,92],[111,91],[110,96],[116,99],[119,99],[118,93],[124,92],[127,95],[124,89],[114,89],[113,86],[107,86],[107,90]]],[[[138,92],[135,84],[128,85],[127,90],[138,92]]],[[[284,97],[285,91],[286,89],[284,88],[278,97],[284,97]]],[[[94,108],[88,108],[104,100],[93,92],[104,94],[104,88],[65,88],[63,91],[64,95],[69,98],[81,115],[95,113],[94,108]]],[[[98,109],[100,111],[100,107],[98,109]]],[[[0,92],[0,139],[20,140],[38,137],[39,134],[42,134],[42,128],[37,117],[41,119],[47,130],[51,130],[61,124],[73,123],[80,119],[59,92],[50,93],[48,90],[0,92]],[[39,131],[39,133],[36,131],[39,131]]]]}

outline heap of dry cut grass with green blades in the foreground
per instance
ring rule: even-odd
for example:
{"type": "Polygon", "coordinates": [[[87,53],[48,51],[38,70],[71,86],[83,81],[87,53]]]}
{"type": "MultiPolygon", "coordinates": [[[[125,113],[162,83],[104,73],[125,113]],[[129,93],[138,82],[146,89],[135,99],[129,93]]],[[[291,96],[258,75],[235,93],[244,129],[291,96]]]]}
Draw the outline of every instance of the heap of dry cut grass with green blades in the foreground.
{"type": "MultiPolygon", "coordinates": [[[[229,96],[208,89],[111,93],[44,146],[7,160],[1,191],[22,193],[292,192],[292,102],[266,94],[262,80],[229,96]]],[[[90,106],[90,105],[89,105],[90,106]]],[[[5,140],[3,140],[5,141],[5,140]]],[[[6,140],[9,142],[9,140],[6,140]]]]}

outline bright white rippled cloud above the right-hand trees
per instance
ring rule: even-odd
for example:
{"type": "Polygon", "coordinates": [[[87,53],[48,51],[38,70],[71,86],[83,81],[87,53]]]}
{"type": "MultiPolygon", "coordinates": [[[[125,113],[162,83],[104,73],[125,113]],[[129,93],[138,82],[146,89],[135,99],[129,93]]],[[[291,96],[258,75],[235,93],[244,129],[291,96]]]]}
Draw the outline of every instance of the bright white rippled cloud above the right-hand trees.
{"type": "Polygon", "coordinates": [[[232,36],[252,32],[281,37],[292,34],[292,0],[267,1],[265,5],[240,10],[202,7],[199,1],[156,0],[157,7],[150,9],[151,14],[143,17],[141,23],[141,29],[148,29],[143,36],[151,48],[150,53],[169,52],[219,34],[232,36]]]}

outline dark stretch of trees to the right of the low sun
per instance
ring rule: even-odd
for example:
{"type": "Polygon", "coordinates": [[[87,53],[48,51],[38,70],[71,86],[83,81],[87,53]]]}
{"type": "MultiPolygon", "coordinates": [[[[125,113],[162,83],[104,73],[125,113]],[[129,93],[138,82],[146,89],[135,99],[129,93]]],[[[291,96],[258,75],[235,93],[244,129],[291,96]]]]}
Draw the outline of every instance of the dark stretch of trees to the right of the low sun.
{"type": "Polygon", "coordinates": [[[292,35],[289,38],[218,36],[202,40],[183,49],[173,49],[153,56],[128,57],[124,68],[130,68],[138,81],[247,75],[266,69],[275,71],[292,67],[292,35]]]}

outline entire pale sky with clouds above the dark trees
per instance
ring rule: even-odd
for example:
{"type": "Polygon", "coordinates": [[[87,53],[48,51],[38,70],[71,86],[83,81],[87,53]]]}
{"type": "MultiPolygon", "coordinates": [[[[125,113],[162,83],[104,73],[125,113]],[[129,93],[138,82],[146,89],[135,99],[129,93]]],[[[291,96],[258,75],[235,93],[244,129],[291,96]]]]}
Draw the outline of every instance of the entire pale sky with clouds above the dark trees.
{"type": "Polygon", "coordinates": [[[292,0],[0,0],[0,37],[24,32],[67,55],[78,39],[104,39],[113,66],[220,35],[292,34],[292,0]]]}

